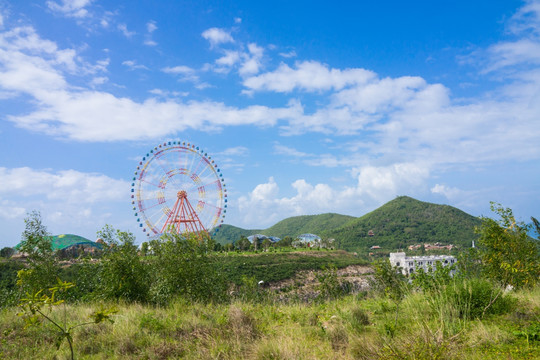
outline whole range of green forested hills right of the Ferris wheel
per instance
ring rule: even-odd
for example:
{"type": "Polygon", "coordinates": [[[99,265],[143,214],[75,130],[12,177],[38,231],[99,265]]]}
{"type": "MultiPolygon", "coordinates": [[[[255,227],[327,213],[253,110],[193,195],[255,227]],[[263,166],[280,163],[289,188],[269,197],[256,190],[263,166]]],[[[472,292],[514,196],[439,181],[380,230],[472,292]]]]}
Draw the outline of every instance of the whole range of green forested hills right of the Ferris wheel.
{"type": "Polygon", "coordinates": [[[374,245],[387,250],[405,249],[424,242],[468,247],[477,238],[474,227],[478,225],[479,218],[455,207],[399,196],[359,218],[332,213],[294,216],[264,230],[223,225],[214,238],[225,244],[252,234],[283,238],[313,233],[334,238],[337,247],[345,250],[366,250],[374,245]]]}

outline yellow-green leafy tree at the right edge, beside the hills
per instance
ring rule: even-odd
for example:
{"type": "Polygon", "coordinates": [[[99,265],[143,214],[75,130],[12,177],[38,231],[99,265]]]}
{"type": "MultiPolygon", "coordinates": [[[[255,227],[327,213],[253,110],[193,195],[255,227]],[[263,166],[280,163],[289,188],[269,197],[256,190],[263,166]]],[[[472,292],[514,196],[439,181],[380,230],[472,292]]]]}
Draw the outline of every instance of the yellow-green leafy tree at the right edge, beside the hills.
{"type": "Polygon", "coordinates": [[[503,287],[531,287],[540,277],[538,242],[528,236],[529,227],[517,222],[512,210],[491,202],[499,220],[482,218],[479,253],[485,274],[503,287]]]}

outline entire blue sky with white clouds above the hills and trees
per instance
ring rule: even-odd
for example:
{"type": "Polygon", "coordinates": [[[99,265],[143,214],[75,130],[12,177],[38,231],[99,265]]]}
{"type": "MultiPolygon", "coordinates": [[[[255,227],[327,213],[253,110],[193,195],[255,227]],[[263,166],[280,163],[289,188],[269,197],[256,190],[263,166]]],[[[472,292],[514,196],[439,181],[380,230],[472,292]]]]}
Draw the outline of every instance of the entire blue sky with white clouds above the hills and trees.
{"type": "Polygon", "coordinates": [[[0,0],[0,246],[133,231],[151,148],[204,148],[225,223],[399,195],[540,217],[540,3],[0,0]]]}

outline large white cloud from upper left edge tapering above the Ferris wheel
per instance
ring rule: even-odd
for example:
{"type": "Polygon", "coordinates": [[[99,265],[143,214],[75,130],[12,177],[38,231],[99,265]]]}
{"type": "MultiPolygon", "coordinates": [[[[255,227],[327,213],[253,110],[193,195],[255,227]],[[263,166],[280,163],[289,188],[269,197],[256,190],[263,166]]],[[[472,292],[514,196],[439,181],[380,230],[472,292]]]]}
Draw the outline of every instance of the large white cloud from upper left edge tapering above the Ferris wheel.
{"type": "MultiPolygon", "coordinates": [[[[8,116],[9,120],[53,136],[114,141],[161,137],[188,128],[215,131],[231,125],[275,125],[299,111],[294,106],[235,108],[212,101],[183,103],[150,98],[136,102],[106,92],[74,89],[58,68],[67,63],[64,54],[55,43],[40,39],[32,28],[0,33],[0,88],[36,100],[35,109],[8,116]]],[[[134,65],[125,63],[129,64],[134,65]]],[[[191,73],[190,68],[182,66],[165,71],[191,73]]]]}

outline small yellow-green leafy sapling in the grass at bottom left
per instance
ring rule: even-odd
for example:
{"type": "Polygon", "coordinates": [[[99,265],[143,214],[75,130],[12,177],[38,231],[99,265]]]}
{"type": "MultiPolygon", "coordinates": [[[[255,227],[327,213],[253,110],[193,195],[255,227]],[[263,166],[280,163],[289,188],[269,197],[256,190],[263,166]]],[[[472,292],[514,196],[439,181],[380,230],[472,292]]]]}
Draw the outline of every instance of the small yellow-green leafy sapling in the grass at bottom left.
{"type": "MultiPolygon", "coordinates": [[[[19,273],[24,273],[27,270],[21,270],[19,273]]],[[[21,276],[22,279],[24,279],[24,276],[21,276]]],[[[23,280],[20,280],[23,281],[23,280]]],[[[58,306],[61,304],[64,304],[64,300],[57,300],[56,294],[62,291],[66,291],[69,288],[74,287],[75,285],[69,282],[58,280],[58,284],[56,286],[50,287],[47,289],[47,291],[39,290],[35,293],[27,293],[26,297],[23,297],[20,299],[19,306],[21,307],[22,311],[17,314],[19,316],[22,316],[24,318],[24,321],[26,323],[25,328],[29,326],[36,326],[41,324],[42,320],[45,319],[51,324],[53,324],[57,329],[57,336],[56,336],[56,349],[60,349],[60,346],[62,345],[62,342],[64,339],[67,340],[69,344],[69,351],[71,353],[71,359],[73,360],[75,358],[75,352],[73,350],[73,331],[76,328],[90,325],[90,324],[99,324],[104,321],[109,321],[113,323],[114,321],[111,319],[111,315],[116,313],[116,309],[100,309],[99,311],[95,311],[90,315],[90,319],[92,321],[83,322],[80,324],[75,324],[69,326],[65,320],[64,323],[61,323],[58,320],[55,320],[53,316],[51,316],[51,310],[53,306],[58,306]]],[[[64,312],[65,312],[65,304],[64,304],[64,312]]],[[[66,318],[64,313],[64,319],[66,318]]]]}

